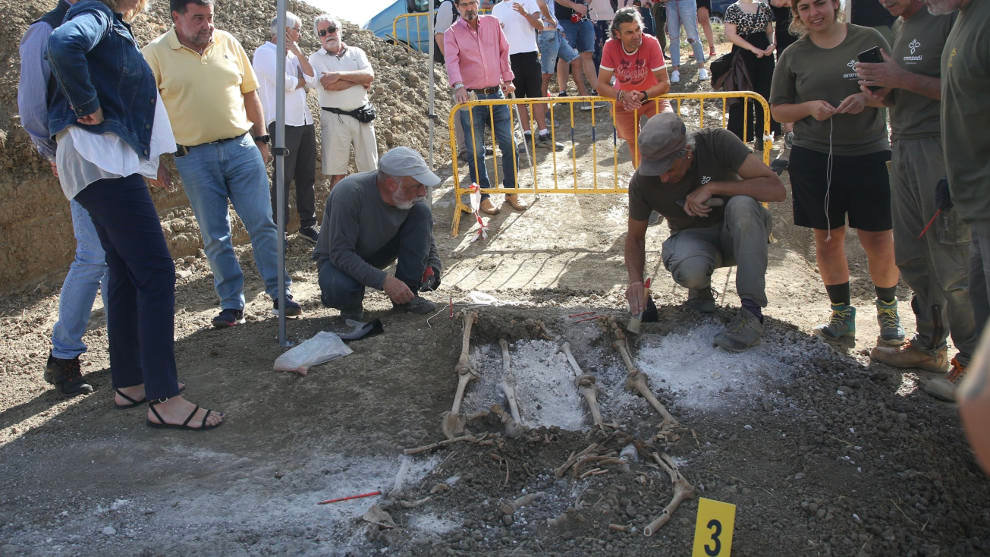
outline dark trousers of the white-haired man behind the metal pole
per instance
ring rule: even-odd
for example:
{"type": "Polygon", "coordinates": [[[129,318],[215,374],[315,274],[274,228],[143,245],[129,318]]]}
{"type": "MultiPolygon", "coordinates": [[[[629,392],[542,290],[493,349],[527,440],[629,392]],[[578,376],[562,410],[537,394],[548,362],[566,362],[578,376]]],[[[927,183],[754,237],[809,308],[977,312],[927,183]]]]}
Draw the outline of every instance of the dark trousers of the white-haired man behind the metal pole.
{"type": "MultiPolygon", "coordinates": [[[[275,137],[275,122],[268,125],[268,134],[275,137]]],[[[296,210],[299,227],[316,224],[316,130],[308,126],[285,126],[285,217],[289,217],[289,184],[296,183],[296,210]]],[[[278,221],[278,192],[275,189],[275,169],[272,168],[272,219],[278,221]]]]}

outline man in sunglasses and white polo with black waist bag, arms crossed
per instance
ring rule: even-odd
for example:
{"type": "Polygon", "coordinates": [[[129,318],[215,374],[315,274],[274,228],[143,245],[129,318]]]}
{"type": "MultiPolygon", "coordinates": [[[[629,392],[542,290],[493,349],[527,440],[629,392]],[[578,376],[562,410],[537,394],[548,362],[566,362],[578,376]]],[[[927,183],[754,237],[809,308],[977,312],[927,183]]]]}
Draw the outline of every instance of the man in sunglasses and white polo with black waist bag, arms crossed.
{"type": "Polygon", "coordinates": [[[314,80],[319,80],[323,174],[330,176],[332,188],[347,175],[352,145],[358,172],[378,168],[378,143],[371,123],[374,109],[368,101],[375,71],[363,50],[344,44],[340,20],[320,14],[314,25],[323,48],[311,54],[309,62],[316,72],[314,80]]]}

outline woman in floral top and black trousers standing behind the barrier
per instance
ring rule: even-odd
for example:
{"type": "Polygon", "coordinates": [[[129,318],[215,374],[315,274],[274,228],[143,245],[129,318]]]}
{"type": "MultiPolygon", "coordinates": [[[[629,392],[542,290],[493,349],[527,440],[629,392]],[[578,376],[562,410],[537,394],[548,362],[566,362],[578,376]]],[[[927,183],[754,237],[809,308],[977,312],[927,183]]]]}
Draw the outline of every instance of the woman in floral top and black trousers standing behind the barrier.
{"type": "MultiPolygon", "coordinates": [[[[725,36],[732,43],[732,53],[742,56],[749,71],[753,90],[770,96],[773,81],[773,51],[777,41],[773,33],[773,10],[760,0],[738,0],[725,9],[725,36]]],[[[756,138],[756,148],[763,149],[763,107],[747,102],[746,136],[743,137],[743,103],[729,108],[729,131],[743,141],[756,138]]],[[[780,124],[771,121],[770,131],[780,133],[780,124]]]]}

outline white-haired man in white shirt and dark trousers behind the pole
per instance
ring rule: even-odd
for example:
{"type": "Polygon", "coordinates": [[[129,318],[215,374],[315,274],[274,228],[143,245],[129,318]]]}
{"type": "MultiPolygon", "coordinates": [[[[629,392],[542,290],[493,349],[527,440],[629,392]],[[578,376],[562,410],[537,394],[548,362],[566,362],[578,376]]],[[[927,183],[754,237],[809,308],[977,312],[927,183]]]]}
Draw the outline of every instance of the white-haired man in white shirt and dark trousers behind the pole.
{"type": "MultiPolygon", "coordinates": [[[[299,50],[299,33],[302,20],[292,12],[285,13],[285,214],[289,214],[289,184],[296,183],[296,210],[299,212],[299,235],[316,243],[316,131],[313,115],[306,106],[307,79],[315,77],[313,66],[299,50]],[[302,155],[302,156],[300,156],[302,155]]],[[[268,134],[275,136],[275,93],[278,76],[277,60],[278,21],[272,18],[271,40],[254,51],[251,66],[258,76],[258,93],[265,112],[268,134]]],[[[278,218],[275,190],[275,171],[272,170],[272,216],[278,218]]]]}

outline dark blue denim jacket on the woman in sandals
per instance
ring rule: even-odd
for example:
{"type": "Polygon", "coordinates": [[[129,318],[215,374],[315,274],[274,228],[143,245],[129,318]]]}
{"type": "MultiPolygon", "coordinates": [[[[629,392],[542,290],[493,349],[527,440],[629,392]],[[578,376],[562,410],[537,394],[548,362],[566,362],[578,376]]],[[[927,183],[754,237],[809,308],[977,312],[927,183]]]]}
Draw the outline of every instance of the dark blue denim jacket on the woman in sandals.
{"type": "Polygon", "coordinates": [[[47,56],[59,85],[48,110],[52,137],[73,125],[97,134],[110,132],[147,159],[157,85],[120,14],[98,0],[73,5],[48,39],[47,56]],[[76,121],[98,108],[103,109],[102,123],[76,121]]]}

